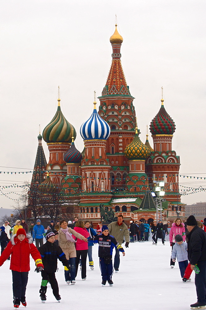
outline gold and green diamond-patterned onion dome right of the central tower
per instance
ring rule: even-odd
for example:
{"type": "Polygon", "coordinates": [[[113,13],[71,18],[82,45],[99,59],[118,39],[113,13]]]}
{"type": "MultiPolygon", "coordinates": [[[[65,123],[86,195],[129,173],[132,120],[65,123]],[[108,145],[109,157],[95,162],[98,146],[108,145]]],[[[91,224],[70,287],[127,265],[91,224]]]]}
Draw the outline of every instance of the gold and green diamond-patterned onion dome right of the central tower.
{"type": "Polygon", "coordinates": [[[133,141],[125,148],[125,156],[129,160],[135,160],[135,159],[146,160],[146,158],[150,154],[150,150],[139,139],[139,133],[137,131],[137,127],[135,129],[136,129],[136,133],[135,133],[133,141]]]}

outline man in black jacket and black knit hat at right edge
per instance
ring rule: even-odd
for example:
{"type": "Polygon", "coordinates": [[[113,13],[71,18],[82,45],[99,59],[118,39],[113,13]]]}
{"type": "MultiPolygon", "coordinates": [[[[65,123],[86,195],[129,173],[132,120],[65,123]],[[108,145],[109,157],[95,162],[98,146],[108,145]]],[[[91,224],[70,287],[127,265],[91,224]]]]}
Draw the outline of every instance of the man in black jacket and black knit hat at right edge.
{"type": "Polygon", "coordinates": [[[206,234],[197,226],[194,215],[188,217],[186,225],[189,231],[187,251],[191,269],[194,270],[196,266],[199,268],[199,273],[195,274],[197,303],[190,306],[191,309],[198,309],[206,305],[206,234]]]}

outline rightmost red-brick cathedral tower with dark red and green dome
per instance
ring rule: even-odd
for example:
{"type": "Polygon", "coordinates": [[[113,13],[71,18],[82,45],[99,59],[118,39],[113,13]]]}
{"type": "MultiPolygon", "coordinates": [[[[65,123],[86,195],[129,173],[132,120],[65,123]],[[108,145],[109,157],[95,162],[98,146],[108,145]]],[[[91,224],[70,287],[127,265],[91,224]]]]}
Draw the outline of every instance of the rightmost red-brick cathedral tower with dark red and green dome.
{"type": "Polygon", "coordinates": [[[178,174],[180,158],[172,150],[172,138],[175,131],[173,119],[164,108],[164,99],[161,99],[161,108],[150,123],[154,151],[146,160],[146,173],[149,183],[163,181],[165,196],[168,201],[180,201],[178,174]]]}

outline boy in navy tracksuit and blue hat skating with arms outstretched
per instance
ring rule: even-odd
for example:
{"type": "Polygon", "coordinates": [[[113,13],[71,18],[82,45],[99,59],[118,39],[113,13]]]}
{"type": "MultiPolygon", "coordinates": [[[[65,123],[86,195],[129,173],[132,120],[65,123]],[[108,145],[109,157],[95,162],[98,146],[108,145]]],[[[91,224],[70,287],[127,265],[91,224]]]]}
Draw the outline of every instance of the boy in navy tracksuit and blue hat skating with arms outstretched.
{"type": "Polygon", "coordinates": [[[102,286],[108,281],[109,285],[112,286],[112,250],[113,247],[117,248],[125,256],[123,247],[116,241],[116,239],[109,234],[108,227],[102,226],[102,234],[96,235],[95,237],[88,240],[89,242],[99,243],[99,265],[102,273],[102,286]]]}

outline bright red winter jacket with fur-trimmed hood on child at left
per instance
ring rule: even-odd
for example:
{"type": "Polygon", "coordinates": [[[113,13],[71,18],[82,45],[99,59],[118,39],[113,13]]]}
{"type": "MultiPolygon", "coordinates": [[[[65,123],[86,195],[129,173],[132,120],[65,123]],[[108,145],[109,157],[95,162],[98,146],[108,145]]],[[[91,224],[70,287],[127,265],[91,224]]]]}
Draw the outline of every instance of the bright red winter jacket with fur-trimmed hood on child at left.
{"type": "Polygon", "coordinates": [[[15,234],[0,256],[0,266],[2,266],[5,260],[11,255],[10,269],[18,272],[28,272],[30,270],[30,254],[36,266],[42,266],[44,268],[41,255],[33,244],[33,238],[30,235],[26,235],[25,239],[20,241],[15,234]]]}

